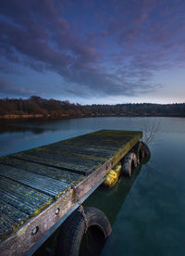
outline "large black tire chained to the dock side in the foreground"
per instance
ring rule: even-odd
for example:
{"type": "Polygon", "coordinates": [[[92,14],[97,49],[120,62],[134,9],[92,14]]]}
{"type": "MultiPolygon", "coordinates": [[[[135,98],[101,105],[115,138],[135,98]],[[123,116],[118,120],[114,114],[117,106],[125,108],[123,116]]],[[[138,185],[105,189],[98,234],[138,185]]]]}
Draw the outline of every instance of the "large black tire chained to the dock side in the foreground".
{"type": "MultiPolygon", "coordinates": [[[[93,207],[84,209],[87,218],[87,228],[97,227],[104,237],[108,237],[112,231],[111,225],[103,211],[93,207]]],[[[79,210],[74,211],[64,224],[58,236],[57,256],[78,256],[80,243],[86,231],[84,218],[79,210]]]]}

